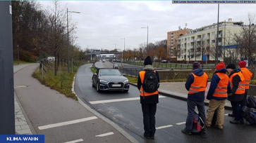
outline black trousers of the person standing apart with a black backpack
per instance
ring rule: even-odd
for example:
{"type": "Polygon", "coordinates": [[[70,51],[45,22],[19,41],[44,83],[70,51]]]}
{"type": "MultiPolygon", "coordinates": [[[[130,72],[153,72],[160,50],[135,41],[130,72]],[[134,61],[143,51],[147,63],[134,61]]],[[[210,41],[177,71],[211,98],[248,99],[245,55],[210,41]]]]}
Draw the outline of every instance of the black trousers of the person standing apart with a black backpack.
{"type": "Polygon", "coordinates": [[[154,137],[156,132],[156,118],[154,115],[157,111],[157,104],[141,104],[142,113],[143,113],[143,124],[145,135],[148,137],[154,137]]]}

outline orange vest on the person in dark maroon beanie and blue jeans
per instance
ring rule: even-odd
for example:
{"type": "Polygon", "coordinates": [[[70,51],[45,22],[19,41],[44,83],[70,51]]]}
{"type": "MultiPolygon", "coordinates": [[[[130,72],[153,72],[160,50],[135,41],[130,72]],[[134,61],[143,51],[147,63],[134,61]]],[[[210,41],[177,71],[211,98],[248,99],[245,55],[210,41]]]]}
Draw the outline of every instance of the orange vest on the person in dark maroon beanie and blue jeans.
{"type": "Polygon", "coordinates": [[[193,74],[194,76],[194,82],[190,85],[188,94],[200,93],[202,91],[205,91],[208,80],[207,74],[205,72],[202,76],[197,76],[194,73],[191,74],[193,74]]]}

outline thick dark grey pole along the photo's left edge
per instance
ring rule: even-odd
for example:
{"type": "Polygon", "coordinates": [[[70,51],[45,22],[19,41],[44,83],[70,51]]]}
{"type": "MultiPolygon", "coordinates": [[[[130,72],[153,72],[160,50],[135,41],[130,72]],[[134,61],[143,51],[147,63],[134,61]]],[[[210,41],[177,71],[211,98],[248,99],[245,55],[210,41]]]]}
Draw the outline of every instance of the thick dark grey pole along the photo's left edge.
{"type": "Polygon", "coordinates": [[[0,135],[15,135],[11,1],[0,1],[0,135]]]}

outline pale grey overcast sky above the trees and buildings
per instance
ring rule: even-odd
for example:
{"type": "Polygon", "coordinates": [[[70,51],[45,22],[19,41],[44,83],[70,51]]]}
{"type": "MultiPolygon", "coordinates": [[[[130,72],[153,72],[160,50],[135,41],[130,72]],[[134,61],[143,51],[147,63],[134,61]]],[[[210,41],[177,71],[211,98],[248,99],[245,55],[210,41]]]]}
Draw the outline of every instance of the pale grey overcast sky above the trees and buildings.
{"type": "MultiPolygon", "coordinates": [[[[139,48],[140,43],[167,39],[167,32],[178,27],[196,29],[217,23],[218,4],[172,4],[171,1],[60,1],[62,8],[77,22],[78,39],[82,49],[139,48]]],[[[52,1],[39,1],[52,6],[52,1]]],[[[248,13],[256,15],[256,4],[220,4],[219,22],[248,22],[248,13]]],[[[256,21],[256,18],[255,18],[256,21]]]]}

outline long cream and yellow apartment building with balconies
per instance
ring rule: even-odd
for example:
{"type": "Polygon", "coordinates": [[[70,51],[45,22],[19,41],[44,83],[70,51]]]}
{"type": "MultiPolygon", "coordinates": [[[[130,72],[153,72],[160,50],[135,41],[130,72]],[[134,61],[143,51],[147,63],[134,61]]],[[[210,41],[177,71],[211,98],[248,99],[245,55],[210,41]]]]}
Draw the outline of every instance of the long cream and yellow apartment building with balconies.
{"type": "MultiPolygon", "coordinates": [[[[218,32],[217,23],[186,32],[178,37],[177,60],[216,60],[216,49],[221,53],[223,47],[235,44],[232,43],[233,34],[240,32],[240,25],[243,22],[233,22],[229,18],[228,21],[219,22],[218,32]]],[[[218,55],[218,60],[223,60],[221,54],[218,55]]]]}

